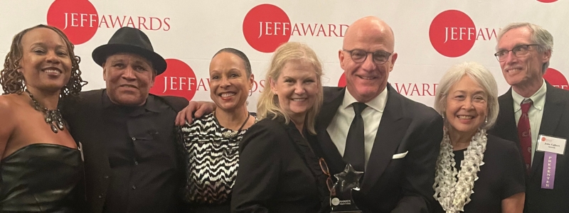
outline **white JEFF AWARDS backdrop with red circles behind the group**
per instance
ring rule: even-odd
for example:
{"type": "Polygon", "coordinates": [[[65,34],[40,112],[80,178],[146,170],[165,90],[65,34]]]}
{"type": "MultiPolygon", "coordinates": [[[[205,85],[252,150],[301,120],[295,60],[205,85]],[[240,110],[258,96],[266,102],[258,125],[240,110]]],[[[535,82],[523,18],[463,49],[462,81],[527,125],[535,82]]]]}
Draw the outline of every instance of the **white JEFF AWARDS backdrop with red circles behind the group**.
{"type": "Polygon", "coordinates": [[[338,51],[346,29],[363,16],[378,16],[395,33],[399,58],[389,82],[400,92],[432,106],[437,82],[452,65],[477,61],[496,77],[499,92],[509,89],[494,58],[496,35],[511,22],[531,22],[553,34],[546,80],[569,89],[569,1],[567,0],[4,0],[0,1],[0,55],[13,36],[43,23],[62,29],[75,44],[83,89],[105,87],[102,68],[91,52],[118,28],[139,28],[168,68],[151,93],[209,100],[209,62],[221,48],[237,48],[250,58],[255,84],[250,111],[268,87],[265,70],[281,43],[311,46],[324,63],[323,84],[344,86],[338,51]]]}

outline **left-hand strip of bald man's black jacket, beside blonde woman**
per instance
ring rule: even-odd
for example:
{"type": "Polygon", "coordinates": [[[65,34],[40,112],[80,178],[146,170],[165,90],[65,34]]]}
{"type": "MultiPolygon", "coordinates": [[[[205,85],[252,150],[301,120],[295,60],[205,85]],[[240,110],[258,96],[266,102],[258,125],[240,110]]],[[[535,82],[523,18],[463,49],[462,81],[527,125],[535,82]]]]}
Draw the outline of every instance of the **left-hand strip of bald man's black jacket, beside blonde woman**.
{"type": "Polygon", "coordinates": [[[319,144],[322,149],[326,163],[329,166],[331,174],[340,173],[344,170],[346,163],[342,159],[342,155],[339,153],[338,148],[332,142],[329,133],[326,131],[328,125],[334,119],[338,107],[344,100],[344,94],[346,88],[338,87],[324,87],[324,103],[322,104],[321,111],[317,118],[317,141],[313,141],[319,144]]]}

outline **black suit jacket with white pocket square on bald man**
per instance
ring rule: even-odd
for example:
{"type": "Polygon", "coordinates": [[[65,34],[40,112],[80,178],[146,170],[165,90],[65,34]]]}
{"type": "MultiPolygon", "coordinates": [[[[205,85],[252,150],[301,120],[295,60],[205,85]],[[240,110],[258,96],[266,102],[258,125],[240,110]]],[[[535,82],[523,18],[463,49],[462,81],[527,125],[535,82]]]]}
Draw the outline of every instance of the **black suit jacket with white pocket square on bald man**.
{"type": "MultiPolygon", "coordinates": [[[[388,99],[371,149],[361,190],[353,199],[363,212],[431,212],[435,203],[435,163],[442,141],[442,117],[437,112],[398,94],[388,84],[388,99]],[[392,159],[405,153],[404,158],[392,159]]],[[[325,87],[317,119],[318,140],[313,146],[328,163],[331,174],[346,163],[326,128],[344,99],[344,88],[325,87]]]]}

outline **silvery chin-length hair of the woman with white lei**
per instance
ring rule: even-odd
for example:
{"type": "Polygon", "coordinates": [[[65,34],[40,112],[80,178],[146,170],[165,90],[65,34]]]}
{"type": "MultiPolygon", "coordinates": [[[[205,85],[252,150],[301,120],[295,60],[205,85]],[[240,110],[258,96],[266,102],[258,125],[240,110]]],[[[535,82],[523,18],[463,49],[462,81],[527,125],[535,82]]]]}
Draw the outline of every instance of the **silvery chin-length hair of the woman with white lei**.
{"type": "MultiPolygon", "coordinates": [[[[490,129],[496,123],[496,118],[498,117],[498,86],[496,85],[494,75],[478,62],[462,62],[450,67],[447,73],[442,76],[437,87],[435,110],[443,117],[445,116],[450,87],[459,82],[465,75],[477,82],[488,95],[488,114],[486,115],[486,121],[488,122],[480,127],[482,129],[490,129]]],[[[446,124],[447,120],[445,118],[446,124]]]]}

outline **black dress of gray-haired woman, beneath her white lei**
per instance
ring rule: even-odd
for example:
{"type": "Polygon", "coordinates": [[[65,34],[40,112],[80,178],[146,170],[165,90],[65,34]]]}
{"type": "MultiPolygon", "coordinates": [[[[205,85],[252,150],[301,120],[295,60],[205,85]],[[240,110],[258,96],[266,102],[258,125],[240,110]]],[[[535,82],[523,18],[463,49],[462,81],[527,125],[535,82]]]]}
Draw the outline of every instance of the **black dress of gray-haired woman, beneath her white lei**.
{"type": "MultiPolygon", "coordinates": [[[[477,173],[478,180],[474,182],[471,201],[464,206],[466,213],[501,212],[502,200],[526,191],[523,180],[525,169],[516,144],[492,135],[488,135],[487,138],[484,165],[480,166],[480,171],[477,173]]],[[[454,151],[457,170],[463,159],[464,150],[454,151]]],[[[438,202],[435,212],[445,212],[438,202]]]]}

